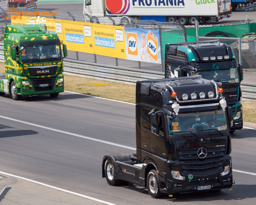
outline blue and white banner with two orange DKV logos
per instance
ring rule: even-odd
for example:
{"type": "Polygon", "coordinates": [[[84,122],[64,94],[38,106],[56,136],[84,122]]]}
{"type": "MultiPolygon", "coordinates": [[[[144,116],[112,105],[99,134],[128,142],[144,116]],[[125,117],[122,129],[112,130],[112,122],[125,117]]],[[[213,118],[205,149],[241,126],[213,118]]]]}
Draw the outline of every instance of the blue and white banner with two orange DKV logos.
{"type": "Polygon", "coordinates": [[[126,59],[161,64],[159,30],[124,28],[126,59]]]}

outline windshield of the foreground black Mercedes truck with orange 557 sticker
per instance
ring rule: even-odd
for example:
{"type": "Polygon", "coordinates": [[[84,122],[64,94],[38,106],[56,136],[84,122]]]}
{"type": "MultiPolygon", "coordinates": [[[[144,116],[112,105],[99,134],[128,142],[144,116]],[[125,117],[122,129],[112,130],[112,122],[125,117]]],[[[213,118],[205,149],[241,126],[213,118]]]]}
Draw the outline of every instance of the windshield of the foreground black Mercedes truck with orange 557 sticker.
{"type": "Polygon", "coordinates": [[[181,134],[181,132],[192,132],[193,134],[209,130],[225,131],[223,134],[228,132],[226,114],[222,109],[179,113],[172,120],[167,116],[167,123],[170,135],[181,134]]]}

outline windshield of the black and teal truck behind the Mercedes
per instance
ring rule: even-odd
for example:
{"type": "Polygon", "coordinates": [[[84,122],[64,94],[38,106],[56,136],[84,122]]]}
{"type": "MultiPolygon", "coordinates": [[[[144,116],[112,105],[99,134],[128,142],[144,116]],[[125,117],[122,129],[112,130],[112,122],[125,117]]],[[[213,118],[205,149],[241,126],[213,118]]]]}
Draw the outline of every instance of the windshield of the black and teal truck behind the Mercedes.
{"type": "Polygon", "coordinates": [[[202,78],[207,80],[214,80],[217,83],[239,83],[238,69],[222,69],[212,71],[199,71],[198,75],[202,75],[202,78]]]}

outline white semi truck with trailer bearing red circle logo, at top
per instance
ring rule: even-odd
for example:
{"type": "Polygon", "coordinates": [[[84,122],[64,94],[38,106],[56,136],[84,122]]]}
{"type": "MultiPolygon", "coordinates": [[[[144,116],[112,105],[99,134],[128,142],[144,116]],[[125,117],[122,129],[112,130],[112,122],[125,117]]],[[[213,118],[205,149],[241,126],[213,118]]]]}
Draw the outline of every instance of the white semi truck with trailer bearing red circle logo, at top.
{"type": "Polygon", "coordinates": [[[176,22],[195,25],[218,22],[232,14],[231,0],[84,0],[84,14],[92,17],[118,17],[121,24],[128,18],[176,22]]]}

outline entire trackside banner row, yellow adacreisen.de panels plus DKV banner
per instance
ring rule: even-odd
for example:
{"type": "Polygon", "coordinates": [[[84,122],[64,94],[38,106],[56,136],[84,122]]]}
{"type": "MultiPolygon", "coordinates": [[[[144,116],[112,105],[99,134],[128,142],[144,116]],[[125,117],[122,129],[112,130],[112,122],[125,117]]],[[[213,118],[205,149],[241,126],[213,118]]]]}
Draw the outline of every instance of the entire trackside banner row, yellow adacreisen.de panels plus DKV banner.
{"type": "Polygon", "coordinates": [[[22,16],[12,24],[44,24],[70,51],[161,64],[159,30],[22,16]]]}

